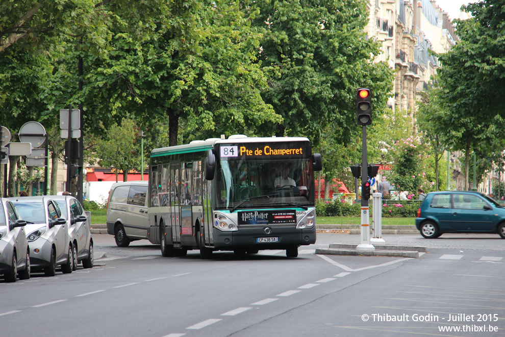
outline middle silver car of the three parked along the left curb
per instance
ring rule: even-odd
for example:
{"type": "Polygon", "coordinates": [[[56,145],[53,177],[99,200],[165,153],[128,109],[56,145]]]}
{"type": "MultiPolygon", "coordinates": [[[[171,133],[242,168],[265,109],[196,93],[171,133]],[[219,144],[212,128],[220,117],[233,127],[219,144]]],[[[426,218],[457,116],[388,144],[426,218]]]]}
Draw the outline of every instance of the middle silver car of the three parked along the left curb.
{"type": "Polygon", "coordinates": [[[30,264],[33,271],[43,270],[46,276],[56,274],[61,266],[65,274],[73,270],[72,243],[67,221],[61,216],[56,201],[48,196],[16,197],[11,200],[27,222],[25,231],[30,245],[30,264]]]}

